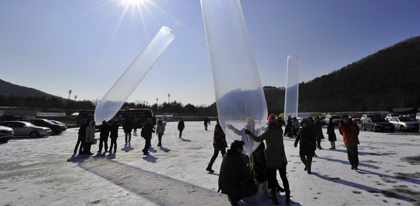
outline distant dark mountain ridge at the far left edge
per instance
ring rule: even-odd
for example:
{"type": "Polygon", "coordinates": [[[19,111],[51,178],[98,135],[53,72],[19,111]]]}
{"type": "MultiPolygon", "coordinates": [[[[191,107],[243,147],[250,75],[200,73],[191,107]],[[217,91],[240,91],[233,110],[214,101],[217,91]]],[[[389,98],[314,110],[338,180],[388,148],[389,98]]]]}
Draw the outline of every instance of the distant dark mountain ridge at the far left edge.
{"type": "Polygon", "coordinates": [[[19,86],[17,84],[12,84],[0,79],[0,95],[17,95],[21,97],[28,96],[37,96],[37,97],[52,97],[49,93],[39,91],[38,89],[33,89],[29,87],[19,86]]]}

